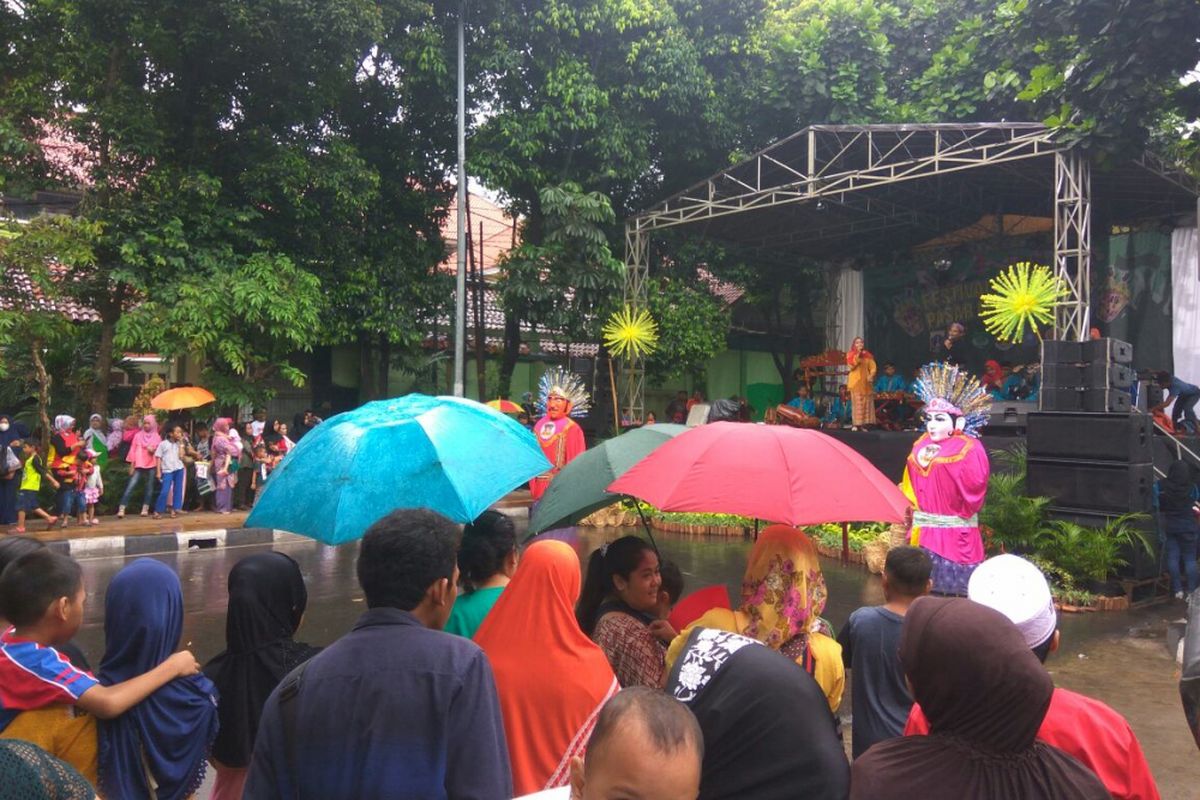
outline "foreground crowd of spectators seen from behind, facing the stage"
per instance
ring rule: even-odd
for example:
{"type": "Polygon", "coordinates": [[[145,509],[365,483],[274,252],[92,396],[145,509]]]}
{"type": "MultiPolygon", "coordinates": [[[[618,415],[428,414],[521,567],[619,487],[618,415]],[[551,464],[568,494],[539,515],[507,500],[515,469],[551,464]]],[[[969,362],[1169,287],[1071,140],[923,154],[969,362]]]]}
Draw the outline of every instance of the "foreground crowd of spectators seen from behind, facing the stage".
{"type": "Polygon", "coordinates": [[[924,551],[893,548],[884,604],[836,634],[815,547],[785,525],[751,548],[736,608],[678,631],[683,577],[635,536],[584,567],[557,540],[518,552],[496,512],[460,531],[396,511],[356,570],[366,610],[318,649],[296,640],[295,561],[241,559],[226,649],[202,669],[175,651],[179,578],[134,560],[106,594],[92,670],[71,644],[78,564],[0,541],[0,762],[134,800],[190,796],[210,766],[218,800],[1158,796],[1126,721],[1054,687],[1049,585],[1015,555],[947,599],[929,596],[924,551]]]}

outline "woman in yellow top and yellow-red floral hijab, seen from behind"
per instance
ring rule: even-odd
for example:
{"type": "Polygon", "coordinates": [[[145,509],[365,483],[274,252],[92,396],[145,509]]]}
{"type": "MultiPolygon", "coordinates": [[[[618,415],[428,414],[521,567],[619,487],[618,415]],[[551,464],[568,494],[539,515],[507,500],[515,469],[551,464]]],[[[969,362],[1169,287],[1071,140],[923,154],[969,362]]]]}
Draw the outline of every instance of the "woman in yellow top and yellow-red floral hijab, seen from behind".
{"type": "Polygon", "coordinates": [[[846,687],[846,668],[841,645],[821,619],[827,599],[812,541],[790,525],[770,525],[750,551],[742,578],[742,607],[706,612],[671,643],[667,666],[676,662],[694,627],[742,633],[804,667],[836,711],[846,687]]]}

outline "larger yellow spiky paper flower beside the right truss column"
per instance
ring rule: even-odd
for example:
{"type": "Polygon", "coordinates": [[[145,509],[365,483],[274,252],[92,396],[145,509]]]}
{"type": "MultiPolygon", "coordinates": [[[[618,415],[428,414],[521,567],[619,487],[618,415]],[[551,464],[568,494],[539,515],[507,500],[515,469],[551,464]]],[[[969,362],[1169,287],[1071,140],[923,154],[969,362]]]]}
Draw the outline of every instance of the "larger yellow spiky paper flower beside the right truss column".
{"type": "Polygon", "coordinates": [[[1020,261],[991,279],[991,294],[979,297],[979,318],[1000,341],[1020,342],[1028,326],[1054,324],[1054,309],[1067,296],[1067,284],[1050,267],[1020,261]]]}

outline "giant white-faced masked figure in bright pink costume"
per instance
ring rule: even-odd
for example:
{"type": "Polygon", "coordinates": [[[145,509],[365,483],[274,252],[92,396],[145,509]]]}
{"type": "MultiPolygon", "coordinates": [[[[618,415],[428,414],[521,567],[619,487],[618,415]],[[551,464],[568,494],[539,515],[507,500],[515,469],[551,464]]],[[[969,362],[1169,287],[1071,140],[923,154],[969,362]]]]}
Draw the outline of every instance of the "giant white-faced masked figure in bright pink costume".
{"type": "Polygon", "coordinates": [[[916,505],[912,543],[934,561],[935,593],[966,596],[984,559],[977,515],[991,468],[978,437],[991,399],[976,378],[947,363],[922,367],[914,391],[925,403],[925,435],[912,446],[900,485],[916,505]]]}

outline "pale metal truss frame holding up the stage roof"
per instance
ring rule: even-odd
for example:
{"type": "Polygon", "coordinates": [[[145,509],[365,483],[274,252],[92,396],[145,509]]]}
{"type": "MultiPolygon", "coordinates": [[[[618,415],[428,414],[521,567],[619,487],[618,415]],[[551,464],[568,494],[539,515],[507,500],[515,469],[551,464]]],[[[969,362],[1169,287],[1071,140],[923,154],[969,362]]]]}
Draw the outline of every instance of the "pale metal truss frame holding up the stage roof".
{"type": "MultiPolygon", "coordinates": [[[[1037,158],[1052,162],[1048,168],[1052,169],[1054,269],[1068,288],[1054,335],[1082,341],[1088,333],[1091,284],[1091,168],[1081,154],[1056,142],[1054,132],[1038,122],[806,127],[626,219],[624,300],[635,308],[646,307],[650,240],[668,229],[707,227],[734,215],[804,204],[820,211],[826,203],[859,216],[818,228],[785,225],[764,231],[748,246],[766,254],[836,239],[888,235],[900,228],[934,229],[936,215],[877,191],[980,168],[998,168],[1020,180],[1014,168],[1037,158]]],[[[1200,196],[1196,181],[1153,156],[1135,163],[1200,196]]],[[[1027,180],[1028,173],[1024,175],[1027,180]]],[[[950,191],[960,192],[964,201],[978,201],[984,190],[959,182],[950,191]]],[[[624,371],[623,411],[628,419],[642,420],[644,363],[624,371]]]]}

